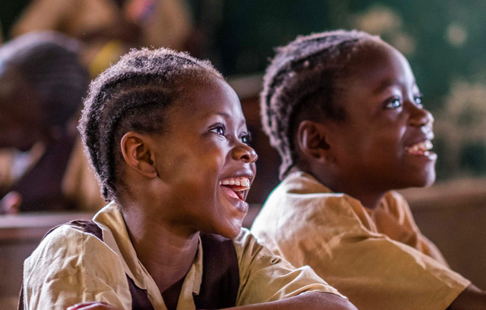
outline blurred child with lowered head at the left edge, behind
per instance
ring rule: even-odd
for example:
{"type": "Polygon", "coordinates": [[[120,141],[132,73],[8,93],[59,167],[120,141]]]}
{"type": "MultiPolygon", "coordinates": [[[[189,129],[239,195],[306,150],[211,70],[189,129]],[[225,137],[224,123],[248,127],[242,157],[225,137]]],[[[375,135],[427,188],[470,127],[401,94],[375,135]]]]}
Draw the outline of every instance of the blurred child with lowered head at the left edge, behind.
{"type": "Polygon", "coordinates": [[[89,82],[79,46],[39,32],[0,47],[0,213],[104,204],[76,131],[89,82]]]}

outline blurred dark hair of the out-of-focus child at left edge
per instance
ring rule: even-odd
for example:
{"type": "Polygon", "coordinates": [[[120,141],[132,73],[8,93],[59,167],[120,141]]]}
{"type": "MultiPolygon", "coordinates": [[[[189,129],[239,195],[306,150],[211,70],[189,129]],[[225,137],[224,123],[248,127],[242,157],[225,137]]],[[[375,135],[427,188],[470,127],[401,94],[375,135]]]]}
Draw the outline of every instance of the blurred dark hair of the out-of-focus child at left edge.
{"type": "Polygon", "coordinates": [[[64,127],[80,109],[89,75],[80,42],[57,32],[22,35],[0,48],[0,64],[13,67],[39,97],[42,123],[64,127]]]}

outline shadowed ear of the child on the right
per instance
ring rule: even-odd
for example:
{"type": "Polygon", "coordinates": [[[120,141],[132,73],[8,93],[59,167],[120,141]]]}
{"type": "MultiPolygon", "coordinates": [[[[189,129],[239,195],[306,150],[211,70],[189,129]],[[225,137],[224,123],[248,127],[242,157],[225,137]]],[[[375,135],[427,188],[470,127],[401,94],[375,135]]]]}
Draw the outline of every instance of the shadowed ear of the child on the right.
{"type": "Polygon", "coordinates": [[[323,123],[305,120],[297,130],[300,151],[311,158],[329,160],[330,146],[327,144],[327,127],[323,123]]]}

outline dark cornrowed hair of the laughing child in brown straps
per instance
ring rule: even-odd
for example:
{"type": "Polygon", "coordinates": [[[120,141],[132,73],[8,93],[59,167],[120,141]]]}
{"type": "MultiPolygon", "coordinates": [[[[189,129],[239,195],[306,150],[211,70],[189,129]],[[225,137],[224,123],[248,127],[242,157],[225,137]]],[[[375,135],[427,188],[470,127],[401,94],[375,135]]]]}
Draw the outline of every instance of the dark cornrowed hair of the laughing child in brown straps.
{"type": "Polygon", "coordinates": [[[131,50],[90,86],[78,130],[106,201],[123,186],[120,144],[129,131],[162,133],[165,111],[192,82],[223,78],[209,61],[170,49],[131,50]]]}

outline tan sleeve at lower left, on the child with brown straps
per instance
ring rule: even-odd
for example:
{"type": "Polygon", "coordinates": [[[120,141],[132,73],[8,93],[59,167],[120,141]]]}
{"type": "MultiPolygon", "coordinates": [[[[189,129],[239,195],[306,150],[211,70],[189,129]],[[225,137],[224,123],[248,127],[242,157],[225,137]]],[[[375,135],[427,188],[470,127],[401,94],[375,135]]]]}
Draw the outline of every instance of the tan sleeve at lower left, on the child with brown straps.
{"type": "Polygon", "coordinates": [[[132,309],[117,255],[95,236],[67,225],[42,240],[25,260],[23,275],[25,309],[65,310],[90,301],[132,309]]]}

